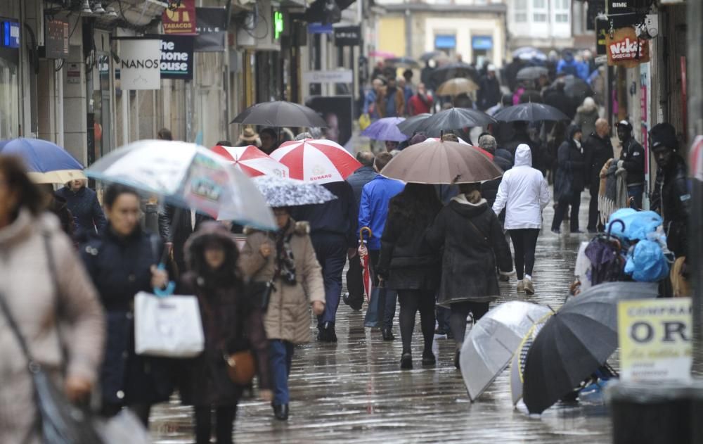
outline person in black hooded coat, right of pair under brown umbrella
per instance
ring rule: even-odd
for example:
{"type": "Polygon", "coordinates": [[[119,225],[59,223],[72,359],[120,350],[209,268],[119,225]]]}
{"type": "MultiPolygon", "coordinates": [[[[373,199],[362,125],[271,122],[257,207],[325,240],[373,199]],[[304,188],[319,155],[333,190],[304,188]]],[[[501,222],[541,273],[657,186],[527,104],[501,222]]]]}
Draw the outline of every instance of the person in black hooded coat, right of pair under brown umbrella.
{"type": "Polygon", "coordinates": [[[501,273],[512,272],[510,247],[496,213],[481,197],[480,184],[460,184],[460,194],[441,209],[425,239],[442,254],[442,276],[437,303],[451,307],[451,329],[459,368],[459,350],[464,343],[466,318],[475,321],[501,296],[496,265],[501,273]]]}

